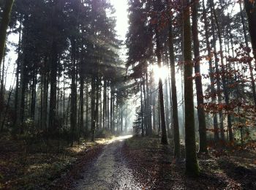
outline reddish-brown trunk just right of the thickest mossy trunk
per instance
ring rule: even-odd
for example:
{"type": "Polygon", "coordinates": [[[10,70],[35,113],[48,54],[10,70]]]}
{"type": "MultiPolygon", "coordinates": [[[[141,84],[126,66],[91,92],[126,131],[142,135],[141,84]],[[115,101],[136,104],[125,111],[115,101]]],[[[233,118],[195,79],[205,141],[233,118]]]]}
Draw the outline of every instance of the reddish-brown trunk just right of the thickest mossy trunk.
{"type": "Polygon", "coordinates": [[[207,139],[206,139],[206,114],[203,109],[203,85],[200,73],[200,50],[199,50],[199,39],[198,39],[198,23],[197,23],[197,12],[198,12],[198,1],[193,1],[192,5],[192,36],[194,42],[194,56],[195,56],[195,87],[197,90],[197,116],[199,122],[199,152],[207,152],[207,139]],[[198,75],[198,76],[197,76],[198,75]]]}

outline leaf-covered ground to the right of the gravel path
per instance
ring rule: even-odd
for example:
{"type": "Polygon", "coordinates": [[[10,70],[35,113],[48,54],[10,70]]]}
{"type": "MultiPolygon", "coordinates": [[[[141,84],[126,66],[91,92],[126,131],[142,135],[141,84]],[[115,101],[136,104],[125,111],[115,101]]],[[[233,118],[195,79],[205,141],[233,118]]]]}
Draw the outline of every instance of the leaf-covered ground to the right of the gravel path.
{"type": "Polygon", "coordinates": [[[133,137],[124,145],[124,154],[145,189],[256,189],[256,152],[231,151],[216,158],[198,156],[200,176],[184,175],[183,159],[173,159],[172,148],[157,138],[133,137]]]}

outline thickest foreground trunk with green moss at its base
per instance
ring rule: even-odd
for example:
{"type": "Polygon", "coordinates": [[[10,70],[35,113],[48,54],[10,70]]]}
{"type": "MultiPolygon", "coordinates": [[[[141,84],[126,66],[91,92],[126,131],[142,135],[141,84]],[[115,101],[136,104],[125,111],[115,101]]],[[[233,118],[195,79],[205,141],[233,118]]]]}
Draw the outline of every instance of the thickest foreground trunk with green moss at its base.
{"type": "Polygon", "coordinates": [[[195,148],[195,117],[192,81],[192,34],[189,16],[189,1],[183,0],[183,32],[184,32],[184,102],[185,102],[185,149],[186,173],[198,175],[197,154],[195,148]]]}

